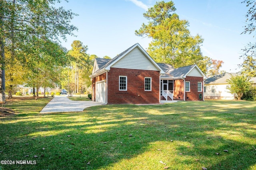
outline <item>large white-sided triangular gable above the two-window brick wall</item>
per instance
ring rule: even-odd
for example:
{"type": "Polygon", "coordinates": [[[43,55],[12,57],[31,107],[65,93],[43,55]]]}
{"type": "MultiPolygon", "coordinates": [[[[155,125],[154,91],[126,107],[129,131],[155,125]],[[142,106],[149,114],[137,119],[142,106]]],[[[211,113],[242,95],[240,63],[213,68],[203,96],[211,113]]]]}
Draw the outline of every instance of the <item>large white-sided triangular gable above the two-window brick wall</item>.
{"type": "Polygon", "coordinates": [[[142,51],[140,51],[138,47],[134,48],[111,67],[158,71],[158,68],[156,68],[156,66],[144,55],[144,53],[142,53],[142,51]]]}

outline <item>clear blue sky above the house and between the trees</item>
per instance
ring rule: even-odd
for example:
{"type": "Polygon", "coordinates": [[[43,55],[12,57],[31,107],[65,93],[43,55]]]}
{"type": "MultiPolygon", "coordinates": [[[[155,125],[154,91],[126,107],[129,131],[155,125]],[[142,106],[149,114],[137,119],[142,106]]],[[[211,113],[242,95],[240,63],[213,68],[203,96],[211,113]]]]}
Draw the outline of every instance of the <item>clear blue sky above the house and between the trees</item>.
{"type": "MultiPolygon", "coordinates": [[[[248,7],[242,0],[173,0],[176,13],[188,20],[191,35],[204,39],[201,50],[204,56],[222,60],[221,70],[237,72],[242,63],[239,56],[252,35],[242,34],[246,25],[248,7]]],[[[165,1],[168,2],[168,1],[165,1]]],[[[147,23],[143,13],[154,6],[156,0],[70,0],[60,6],[78,14],[72,24],[78,27],[77,37],[68,36],[62,45],[71,49],[74,40],[88,45],[88,53],[98,57],[113,58],[135,43],[148,48],[150,39],[134,34],[142,23],[147,23]]]]}

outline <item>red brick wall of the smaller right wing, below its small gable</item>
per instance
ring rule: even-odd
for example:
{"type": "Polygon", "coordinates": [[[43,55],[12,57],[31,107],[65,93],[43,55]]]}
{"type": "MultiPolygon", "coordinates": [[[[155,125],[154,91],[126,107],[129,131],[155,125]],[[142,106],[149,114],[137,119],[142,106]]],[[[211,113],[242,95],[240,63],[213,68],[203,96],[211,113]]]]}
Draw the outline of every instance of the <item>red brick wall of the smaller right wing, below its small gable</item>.
{"type": "MultiPolygon", "coordinates": [[[[196,101],[199,99],[199,94],[202,94],[204,96],[204,87],[203,87],[203,77],[192,77],[192,76],[186,76],[185,78],[186,82],[190,82],[190,92],[185,93],[185,100],[186,101],[196,101]],[[202,92],[198,91],[198,82],[202,82],[202,92]]],[[[203,100],[203,99],[201,99],[203,100]]]]}

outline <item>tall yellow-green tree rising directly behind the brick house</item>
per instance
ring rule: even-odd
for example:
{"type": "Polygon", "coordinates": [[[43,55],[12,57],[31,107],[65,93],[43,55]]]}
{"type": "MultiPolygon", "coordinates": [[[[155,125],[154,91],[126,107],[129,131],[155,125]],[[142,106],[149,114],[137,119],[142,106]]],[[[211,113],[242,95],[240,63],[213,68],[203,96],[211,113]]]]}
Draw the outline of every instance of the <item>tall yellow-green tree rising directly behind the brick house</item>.
{"type": "Polygon", "coordinates": [[[143,14],[149,20],[148,24],[143,23],[135,34],[152,38],[148,53],[158,63],[169,63],[174,68],[191,64],[198,64],[201,68],[206,67],[201,64],[204,60],[200,49],[203,43],[202,37],[191,36],[188,21],[180,20],[174,13],[175,10],[172,1],[156,2],[143,14]]]}

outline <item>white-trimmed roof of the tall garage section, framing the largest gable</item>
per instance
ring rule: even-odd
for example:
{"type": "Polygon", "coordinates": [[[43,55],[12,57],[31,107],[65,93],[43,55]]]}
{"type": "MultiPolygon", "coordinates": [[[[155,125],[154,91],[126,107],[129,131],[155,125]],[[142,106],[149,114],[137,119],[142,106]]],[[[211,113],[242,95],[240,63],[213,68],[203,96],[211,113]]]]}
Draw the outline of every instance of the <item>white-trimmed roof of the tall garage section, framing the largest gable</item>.
{"type": "Polygon", "coordinates": [[[114,57],[113,59],[111,59],[111,60],[109,59],[108,62],[106,60],[105,61],[99,60],[101,64],[104,64],[104,62],[106,62],[106,63],[101,67],[98,66],[99,69],[96,70],[95,72],[93,72],[92,75],[90,75],[90,78],[95,77],[100,74],[103,74],[104,72],[110,70],[110,67],[113,64],[118,62],[120,59],[122,59],[122,57],[124,57],[126,54],[128,54],[130,51],[132,51],[136,47],[138,47],[140,49],[140,51],[150,60],[150,62],[152,64],[154,64],[154,66],[160,71],[160,74],[164,74],[164,70],[162,70],[162,68],[150,57],[150,55],[148,55],[148,53],[140,46],[139,43],[136,43],[136,44],[132,45],[131,47],[129,47],[128,49],[126,49],[125,51],[123,51],[122,53],[120,53],[119,55],[117,55],[116,57],[114,57]]]}

